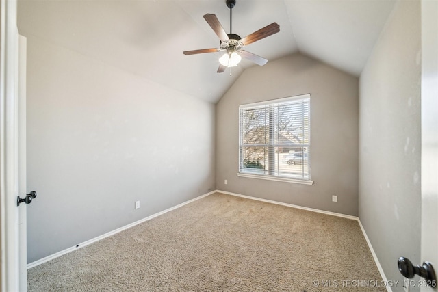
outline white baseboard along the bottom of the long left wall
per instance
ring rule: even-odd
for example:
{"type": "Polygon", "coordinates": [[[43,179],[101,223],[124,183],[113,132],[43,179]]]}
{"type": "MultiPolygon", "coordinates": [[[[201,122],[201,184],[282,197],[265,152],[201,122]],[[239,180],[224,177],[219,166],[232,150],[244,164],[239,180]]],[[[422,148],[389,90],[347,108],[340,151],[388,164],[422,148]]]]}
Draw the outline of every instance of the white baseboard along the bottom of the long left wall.
{"type": "Polygon", "coordinates": [[[177,205],[174,206],[174,207],[170,207],[169,209],[166,209],[166,210],[164,210],[164,211],[161,211],[161,212],[155,213],[155,214],[153,214],[153,215],[151,215],[151,216],[148,216],[148,217],[146,217],[146,218],[143,218],[143,219],[138,220],[138,221],[136,221],[136,222],[133,222],[133,223],[131,223],[131,224],[127,224],[127,225],[125,225],[125,226],[122,226],[122,227],[120,227],[120,228],[117,228],[116,230],[112,230],[112,231],[110,231],[109,233],[105,233],[104,235],[100,235],[100,236],[98,236],[98,237],[94,237],[93,239],[90,239],[90,240],[88,240],[88,241],[84,241],[83,243],[79,243],[78,245],[75,245],[75,246],[73,246],[73,247],[71,247],[71,248],[66,248],[65,250],[61,250],[60,252],[57,252],[57,253],[55,253],[55,254],[51,254],[50,256],[46,256],[46,257],[44,257],[44,258],[41,258],[41,259],[39,259],[38,261],[34,261],[34,262],[32,262],[32,263],[28,263],[28,264],[27,264],[27,269],[31,269],[32,267],[36,267],[37,265],[41,265],[42,263],[46,263],[46,262],[48,262],[48,261],[51,261],[51,260],[53,260],[53,259],[55,259],[55,258],[57,258],[57,257],[63,256],[64,254],[68,254],[69,252],[73,252],[73,250],[77,250],[78,248],[83,248],[84,246],[90,245],[91,243],[94,243],[94,242],[99,241],[99,240],[101,240],[101,239],[104,239],[104,238],[106,238],[106,237],[110,237],[111,235],[115,235],[116,233],[120,233],[120,231],[126,230],[126,229],[128,229],[128,228],[133,227],[133,226],[136,226],[136,225],[138,225],[138,224],[140,224],[140,223],[142,223],[142,222],[145,222],[145,221],[151,220],[151,219],[153,219],[153,218],[155,218],[155,217],[158,217],[159,215],[163,215],[164,213],[168,213],[168,212],[170,212],[170,211],[172,211],[172,210],[178,209],[179,207],[183,207],[185,204],[189,204],[189,203],[191,203],[191,202],[194,202],[194,201],[196,201],[196,200],[199,200],[199,199],[201,199],[201,198],[204,198],[204,197],[209,196],[209,195],[214,194],[214,193],[216,193],[216,191],[210,191],[210,192],[207,193],[207,194],[203,194],[203,195],[201,195],[201,196],[198,196],[198,197],[196,197],[196,198],[193,198],[192,200],[188,200],[188,201],[183,202],[183,203],[181,203],[181,204],[177,204],[177,205]]]}

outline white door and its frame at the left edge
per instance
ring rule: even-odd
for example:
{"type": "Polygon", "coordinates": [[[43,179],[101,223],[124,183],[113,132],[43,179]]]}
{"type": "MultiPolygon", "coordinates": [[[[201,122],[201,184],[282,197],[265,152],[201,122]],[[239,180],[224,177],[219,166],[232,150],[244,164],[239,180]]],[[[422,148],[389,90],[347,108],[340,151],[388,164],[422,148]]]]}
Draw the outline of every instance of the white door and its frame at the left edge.
{"type": "Polygon", "coordinates": [[[0,5],[1,291],[27,291],[26,238],[21,236],[26,233],[26,210],[17,206],[17,197],[26,194],[25,176],[20,181],[25,175],[25,168],[20,170],[20,163],[25,167],[25,156],[21,157],[25,132],[19,131],[21,126],[25,129],[25,120],[23,124],[20,119],[25,119],[25,114],[20,115],[20,109],[25,111],[25,91],[20,103],[18,75],[19,47],[25,39],[18,36],[16,5],[16,0],[1,0],[0,5]]]}

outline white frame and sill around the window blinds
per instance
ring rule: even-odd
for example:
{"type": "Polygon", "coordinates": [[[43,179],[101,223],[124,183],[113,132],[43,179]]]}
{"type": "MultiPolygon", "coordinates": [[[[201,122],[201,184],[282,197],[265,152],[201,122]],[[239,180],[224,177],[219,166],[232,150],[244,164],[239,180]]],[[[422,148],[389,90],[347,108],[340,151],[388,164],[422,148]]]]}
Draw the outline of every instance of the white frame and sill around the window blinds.
{"type": "MultiPolygon", "coordinates": [[[[239,106],[239,161],[238,161],[238,172],[237,172],[237,176],[240,177],[246,177],[246,178],[258,178],[258,179],[263,179],[263,180],[268,180],[268,181],[281,181],[281,182],[286,182],[286,183],[300,183],[300,184],[304,184],[304,185],[312,185],[313,181],[311,181],[311,168],[310,168],[310,155],[308,157],[308,161],[307,161],[307,178],[292,178],[292,177],[287,177],[287,176],[281,176],[279,173],[274,173],[274,174],[255,174],[255,173],[248,173],[248,172],[242,172],[242,109],[248,109],[250,107],[261,107],[263,105],[277,105],[279,103],[285,103],[288,101],[297,101],[297,100],[304,100],[304,99],[309,99],[309,104],[310,104],[310,94],[302,94],[299,96],[290,96],[290,97],[286,97],[286,98],[278,98],[278,99],[273,99],[270,101],[261,101],[259,103],[248,103],[245,105],[240,105],[239,106]]],[[[310,114],[309,114],[309,142],[306,144],[306,147],[308,147],[308,149],[311,148],[311,144],[310,144],[310,114]]]]}

